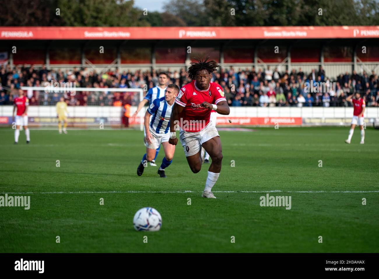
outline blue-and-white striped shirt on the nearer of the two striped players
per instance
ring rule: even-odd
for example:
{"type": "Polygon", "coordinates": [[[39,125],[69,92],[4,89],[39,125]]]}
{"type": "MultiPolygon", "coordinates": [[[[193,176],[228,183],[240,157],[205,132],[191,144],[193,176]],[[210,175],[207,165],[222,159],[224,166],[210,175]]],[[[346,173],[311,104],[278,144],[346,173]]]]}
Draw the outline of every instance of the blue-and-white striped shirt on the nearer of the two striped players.
{"type": "Polygon", "coordinates": [[[150,121],[150,128],[157,134],[168,133],[170,129],[171,109],[173,106],[174,103],[170,106],[163,97],[155,99],[147,109],[147,112],[153,115],[150,121]]]}

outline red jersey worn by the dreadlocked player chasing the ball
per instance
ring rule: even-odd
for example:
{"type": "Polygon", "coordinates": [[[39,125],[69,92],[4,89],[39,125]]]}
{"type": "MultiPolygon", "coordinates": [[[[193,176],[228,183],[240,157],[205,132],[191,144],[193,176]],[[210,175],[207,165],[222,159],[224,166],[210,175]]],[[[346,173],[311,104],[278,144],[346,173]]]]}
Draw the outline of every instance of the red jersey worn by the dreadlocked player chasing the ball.
{"type": "Polygon", "coordinates": [[[209,123],[211,110],[202,107],[203,102],[217,105],[226,101],[224,92],[219,84],[210,82],[207,90],[196,87],[196,81],[184,85],[178,93],[175,102],[184,107],[180,113],[180,128],[184,131],[199,132],[209,123]]]}

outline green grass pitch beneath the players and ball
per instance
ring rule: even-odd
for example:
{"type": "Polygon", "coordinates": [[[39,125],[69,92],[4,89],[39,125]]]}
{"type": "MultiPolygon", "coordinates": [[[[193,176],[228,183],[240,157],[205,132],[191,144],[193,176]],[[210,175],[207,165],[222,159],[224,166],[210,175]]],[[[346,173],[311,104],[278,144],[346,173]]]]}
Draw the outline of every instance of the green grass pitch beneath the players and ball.
{"type": "Polygon", "coordinates": [[[29,145],[23,131],[13,145],[2,128],[0,195],[30,192],[31,205],[0,207],[0,252],[379,252],[379,130],[367,128],[364,145],[358,128],[345,144],[348,131],[220,131],[217,199],[204,199],[208,165],[192,173],[180,145],[168,178],[150,166],[136,175],[141,131],[31,129],[29,145]],[[260,206],[275,190],[290,210],[260,206]],[[161,213],[159,232],[133,229],[145,206],[161,213]]]}

